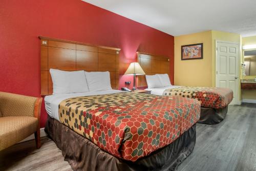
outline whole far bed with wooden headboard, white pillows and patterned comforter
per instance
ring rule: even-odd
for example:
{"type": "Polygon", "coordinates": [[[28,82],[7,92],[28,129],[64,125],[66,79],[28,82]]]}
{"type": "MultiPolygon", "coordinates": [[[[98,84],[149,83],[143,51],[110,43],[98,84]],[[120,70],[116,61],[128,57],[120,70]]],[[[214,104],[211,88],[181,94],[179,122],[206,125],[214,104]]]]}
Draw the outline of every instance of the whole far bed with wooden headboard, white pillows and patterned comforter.
{"type": "Polygon", "coordinates": [[[221,122],[232,101],[233,92],[223,88],[189,88],[172,86],[170,82],[169,58],[162,55],[137,52],[138,62],[146,76],[138,76],[138,87],[151,90],[151,94],[196,98],[201,102],[200,123],[221,122]],[[193,92],[193,93],[192,93],[193,92]],[[194,95],[195,94],[195,95],[194,95]]]}

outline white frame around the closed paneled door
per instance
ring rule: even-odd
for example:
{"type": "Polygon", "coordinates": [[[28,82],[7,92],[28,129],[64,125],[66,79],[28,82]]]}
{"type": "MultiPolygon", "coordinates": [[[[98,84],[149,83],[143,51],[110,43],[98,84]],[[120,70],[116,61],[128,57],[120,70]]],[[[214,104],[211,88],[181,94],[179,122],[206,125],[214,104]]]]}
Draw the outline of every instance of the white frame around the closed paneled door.
{"type": "Polygon", "coordinates": [[[234,105],[241,104],[241,99],[240,99],[240,82],[241,82],[241,68],[240,68],[240,63],[241,63],[241,47],[240,47],[240,42],[233,42],[233,41],[225,41],[225,40],[215,40],[215,85],[217,84],[217,71],[218,71],[218,67],[219,67],[219,63],[217,63],[217,57],[218,57],[218,50],[217,50],[217,45],[218,42],[223,42],[223,43],[227,43],[227,44],[234,44],[234,45],[238,45],[238,82],[237,82],[237,103],[234,103],[234,105]]]}

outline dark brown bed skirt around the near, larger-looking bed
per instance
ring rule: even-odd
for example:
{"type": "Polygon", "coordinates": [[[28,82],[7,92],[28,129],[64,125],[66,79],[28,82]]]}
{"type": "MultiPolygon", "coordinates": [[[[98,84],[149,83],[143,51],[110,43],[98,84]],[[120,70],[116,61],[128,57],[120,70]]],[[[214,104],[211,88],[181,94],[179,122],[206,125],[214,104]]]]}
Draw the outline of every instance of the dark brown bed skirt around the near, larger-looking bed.
{"type": "Polygon", "coordinates": [[[173,143],[131,162],[103,151],[87,138],[49,116],[45,131],[61,149],[73,170],[176,170],[192,153],[196,144],[195,124],[173,143]]]}

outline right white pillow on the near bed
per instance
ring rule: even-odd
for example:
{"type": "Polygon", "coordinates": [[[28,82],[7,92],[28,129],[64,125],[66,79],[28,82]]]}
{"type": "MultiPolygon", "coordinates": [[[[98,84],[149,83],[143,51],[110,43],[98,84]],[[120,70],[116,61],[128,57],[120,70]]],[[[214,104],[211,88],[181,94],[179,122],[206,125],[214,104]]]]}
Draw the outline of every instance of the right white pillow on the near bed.
{"type": "Polygon", "coordinates": [[[90,92],[112,90],[110,72],[84,72],[90,92]]]}

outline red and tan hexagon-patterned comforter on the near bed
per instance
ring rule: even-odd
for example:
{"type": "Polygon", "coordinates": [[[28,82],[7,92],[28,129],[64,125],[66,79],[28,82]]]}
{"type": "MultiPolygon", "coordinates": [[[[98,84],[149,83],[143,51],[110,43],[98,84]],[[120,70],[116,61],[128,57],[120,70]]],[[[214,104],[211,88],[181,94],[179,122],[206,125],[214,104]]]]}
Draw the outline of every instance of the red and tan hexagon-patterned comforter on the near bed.
{"type": "Polygon", "coordinates": [[[181,97],[117,93],[69,98],[59,104],[60,122],[130,161],[172,143],[199,118],[199,101],[181,97]]]}

